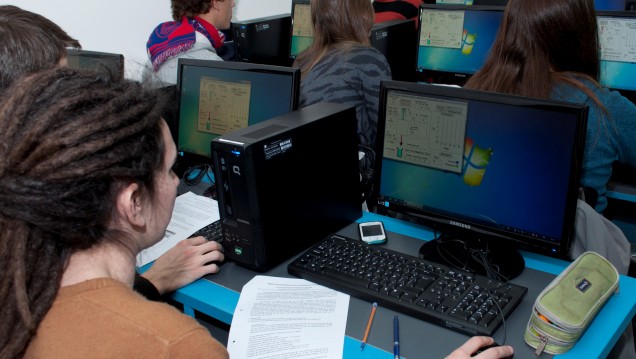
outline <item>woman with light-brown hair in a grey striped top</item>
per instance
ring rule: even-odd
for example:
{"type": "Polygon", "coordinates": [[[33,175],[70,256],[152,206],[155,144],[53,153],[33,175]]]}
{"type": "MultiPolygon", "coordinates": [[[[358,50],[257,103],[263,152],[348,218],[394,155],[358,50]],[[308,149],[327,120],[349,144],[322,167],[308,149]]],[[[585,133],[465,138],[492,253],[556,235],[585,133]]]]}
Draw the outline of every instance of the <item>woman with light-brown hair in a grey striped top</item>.
{"type": "Polygon", "coordinates": [[[380,81],[386,58],[370,45],[369,0],[312,0],[314,41],[294,62],[301,69],[299,106],[329,101],[355,105],[360,144],[375,148],[380,81]]]}

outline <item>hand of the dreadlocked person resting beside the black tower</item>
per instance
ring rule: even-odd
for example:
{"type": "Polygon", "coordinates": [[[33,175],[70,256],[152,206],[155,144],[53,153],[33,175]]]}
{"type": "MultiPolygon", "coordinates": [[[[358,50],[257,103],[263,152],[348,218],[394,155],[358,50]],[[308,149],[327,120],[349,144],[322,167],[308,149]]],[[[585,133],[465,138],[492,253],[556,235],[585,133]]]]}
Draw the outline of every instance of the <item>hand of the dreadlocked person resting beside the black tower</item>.
{"type": "Polygon", "coordinates": [[[157,288],[160,294],[172,292],[207,274],[217,273],[216,262],[225,259],[223,247],[203,237],[180,241],[161,257],[142,276],[157,288]]]}

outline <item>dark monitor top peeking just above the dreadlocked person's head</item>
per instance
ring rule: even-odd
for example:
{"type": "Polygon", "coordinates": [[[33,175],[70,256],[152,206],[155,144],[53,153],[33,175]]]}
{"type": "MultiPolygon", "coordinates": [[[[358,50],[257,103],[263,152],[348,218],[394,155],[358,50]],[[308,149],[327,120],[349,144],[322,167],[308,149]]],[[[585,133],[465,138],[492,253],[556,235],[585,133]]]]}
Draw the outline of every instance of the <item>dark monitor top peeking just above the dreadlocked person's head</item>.
{"type": "Polygon", "coordinates": [[[67,49],[66,60],[70,67],[105,71],[118,80],[124,78],[124,55],[122,54],[67,49]]]}

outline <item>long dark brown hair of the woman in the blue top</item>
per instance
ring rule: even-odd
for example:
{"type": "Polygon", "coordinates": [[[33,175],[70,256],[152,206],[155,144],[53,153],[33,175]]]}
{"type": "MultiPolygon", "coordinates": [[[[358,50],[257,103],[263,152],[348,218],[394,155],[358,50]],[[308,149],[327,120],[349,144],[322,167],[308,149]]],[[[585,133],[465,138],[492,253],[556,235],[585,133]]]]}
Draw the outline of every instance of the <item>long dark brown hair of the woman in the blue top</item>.
{"type": "Polygon", "coordinates": [[[567,73],[599,78],[593,0],[509,0],[489,58],[466,86],[547,98],[567,73]]]}

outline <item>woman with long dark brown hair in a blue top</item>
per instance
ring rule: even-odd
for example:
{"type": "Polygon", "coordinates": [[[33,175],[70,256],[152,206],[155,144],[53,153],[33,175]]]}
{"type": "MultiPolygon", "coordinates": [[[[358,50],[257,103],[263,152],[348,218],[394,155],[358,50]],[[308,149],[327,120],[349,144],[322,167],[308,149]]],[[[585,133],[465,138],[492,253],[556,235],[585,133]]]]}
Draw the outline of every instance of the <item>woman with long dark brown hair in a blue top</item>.
{"type": "Polygon", "coordinates": [[[510,0],[484,66],[465,87],[589,106],[581,185],[607,207],[614,162],[636,167],[636,106],[599,84],[592,0],[510,0]]]}

